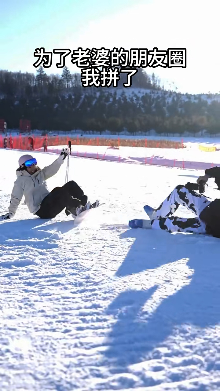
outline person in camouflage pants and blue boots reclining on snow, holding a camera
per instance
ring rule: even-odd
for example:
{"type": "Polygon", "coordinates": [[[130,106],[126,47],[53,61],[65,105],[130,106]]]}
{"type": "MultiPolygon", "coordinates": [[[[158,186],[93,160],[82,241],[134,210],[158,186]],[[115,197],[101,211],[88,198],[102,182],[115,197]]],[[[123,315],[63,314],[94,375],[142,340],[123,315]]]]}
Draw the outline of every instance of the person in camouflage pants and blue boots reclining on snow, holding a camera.
{"type": "Polygon", "coordinates": [[[204,176],[197,179],[197,183],[178,185],[157,209],[144,206],[150,220],[130,220],[131,228],[153,228],[168,232],[190,232],[209,234],[220,238],[220,199],[209,201],[203,194],[197,193],[199,183],[206,183],[209,178],[215,178],[220,190],[220,167],[213,167],[205,171],[204,176]],[[173,216],[179,205],[185,206],[195,213],[196,217],[184,218],[173,216]]]}

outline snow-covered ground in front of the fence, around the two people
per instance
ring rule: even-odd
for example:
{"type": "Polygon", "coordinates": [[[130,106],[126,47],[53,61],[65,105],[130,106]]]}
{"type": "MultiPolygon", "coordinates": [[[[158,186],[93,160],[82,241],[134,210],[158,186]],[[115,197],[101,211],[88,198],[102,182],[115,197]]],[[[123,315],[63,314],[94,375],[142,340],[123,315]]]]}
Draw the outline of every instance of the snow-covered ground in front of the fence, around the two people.
{"type": "MultiPolygon", "coordinates": [[[[0,214],[21,154],[1,150],[0,214]]],[[[56,157],[38,152],[38,164],[56,157]]],[[[105,205],[74,225],[22,201],[0,222],[2,391],[220,389],[219,239],[128,227],[200,174],[72,158],[69,180],[105,205]]],[[[206,195],[219,197],[213,184],[206,195]]]]}

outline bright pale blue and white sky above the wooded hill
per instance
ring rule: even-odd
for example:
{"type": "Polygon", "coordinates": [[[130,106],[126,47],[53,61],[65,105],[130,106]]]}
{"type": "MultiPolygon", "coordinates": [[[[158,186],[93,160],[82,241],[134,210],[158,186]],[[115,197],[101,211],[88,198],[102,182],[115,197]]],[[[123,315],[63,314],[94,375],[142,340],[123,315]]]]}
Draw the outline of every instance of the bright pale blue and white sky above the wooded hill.
{"type": "MultiPolygon", "coordinates": [[[[37,47],[187,49],[187,67],[153,71],[166,88],[220,91],[218,0],[1,0],[0,69],[36,73],[37,47]]],[[[70,72],[79,72],[67,57],[70,72]]],[[[61,73],[53,61],[47,73],[61,73]]]]}

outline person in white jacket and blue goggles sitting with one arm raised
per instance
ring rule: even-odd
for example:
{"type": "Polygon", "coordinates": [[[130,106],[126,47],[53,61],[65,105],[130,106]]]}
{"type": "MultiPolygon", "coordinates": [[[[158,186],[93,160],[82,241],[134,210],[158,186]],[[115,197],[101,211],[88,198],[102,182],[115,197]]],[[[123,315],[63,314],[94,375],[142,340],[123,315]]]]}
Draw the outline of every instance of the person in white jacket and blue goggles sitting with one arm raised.
{"type": "Polygon", "coordinates": [[[16,170],[17,179],[11,194],[9,213],[0,219],[10,219],[16,213],[23,195],[31,213],[41,219],[52,219],[64,208],[65,213],[77,216],[82,209],[88,209],[91,204],[87,195],[74,181],[69,181],[62,187],[55,187],[51,192],[47,188],[46,179],[55,175],[69,154],[68,148],[63,148],[60,156],[52,164],[43,169],[37,166],[37,160],[31,155],[20,157],[16,170]]]}

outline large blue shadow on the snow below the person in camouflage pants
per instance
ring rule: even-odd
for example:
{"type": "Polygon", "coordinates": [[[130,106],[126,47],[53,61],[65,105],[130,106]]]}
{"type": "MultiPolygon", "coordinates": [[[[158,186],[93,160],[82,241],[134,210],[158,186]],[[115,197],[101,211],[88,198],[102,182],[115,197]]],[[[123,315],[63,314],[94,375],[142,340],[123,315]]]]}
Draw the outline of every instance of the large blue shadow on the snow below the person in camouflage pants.
{"type": "Polygon", "coordinates": [[[220,320],[219,239],[140,229],[121,234],[121,239],[128,237],[136,240],[116,272],[119,278],[182,258],[189,258],[187,265],[194,273],[189,285],[164,298],[150,317],[142,308],[159,284],[147,290],[122,292],[108,306],[107,313],[117,319],[108,335],[109,348],[104,353],[106,359],[114,362],[112,372],[143,361],[177,327],[180,333],[195,334],[201,328],[214,327],[220,320]],[[194,327],[187,330],[184,325],[194,327]]]}

